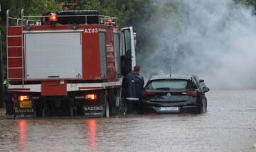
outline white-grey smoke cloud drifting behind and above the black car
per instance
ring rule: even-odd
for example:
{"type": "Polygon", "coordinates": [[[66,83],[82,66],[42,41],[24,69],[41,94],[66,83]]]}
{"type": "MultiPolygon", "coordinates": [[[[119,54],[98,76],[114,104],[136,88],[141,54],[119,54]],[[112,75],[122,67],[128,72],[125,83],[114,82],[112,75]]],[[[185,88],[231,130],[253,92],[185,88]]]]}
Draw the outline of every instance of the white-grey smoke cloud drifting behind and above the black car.
{"type": "Polygon", "coordinates": [[[256,88],[252,8],[232,0],[169,0],[160,7],[174,11],[156,12],[148,28],[139,28],[150,37],[137,54],[144,77],[169,74],[171,66],[173,74],[197,74],[210,88],[256,88]]]}

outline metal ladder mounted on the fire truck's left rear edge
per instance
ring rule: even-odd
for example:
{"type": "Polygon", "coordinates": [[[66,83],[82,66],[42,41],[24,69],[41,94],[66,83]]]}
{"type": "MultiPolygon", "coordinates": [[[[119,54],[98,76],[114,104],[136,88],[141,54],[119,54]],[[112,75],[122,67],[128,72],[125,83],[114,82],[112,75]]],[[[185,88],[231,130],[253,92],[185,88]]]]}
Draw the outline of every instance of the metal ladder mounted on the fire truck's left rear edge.
{"type": "Polygon", "coordinates": [[[26,23],[28,24],[28,21],[33,21],[33,20],[26,20],[23,18],[23,9],[21,10],[21,18],[12,18],[10,17],[10,11],[7,10],[6,12],[6,46],[7,46],[7,51],[6,51],[6,56],[7,56],[7,81],[9,80],[22,80],[22,88],[24,86],[24,74],[25,74],[25,68],[24,68],[24,46],[23,46],[23,23],[24,21],[26,21],[26,23]],[[9,21],[10,19],[16,20],[16,26],[20,27],[21,30],[18,31],[18,33],[20,33],[20,35],[9,35],[8,33],[8,27],[9,27],[9,21]],[[21,23],[20,23],[21,21],[21,23]],[[20,24],[20,25],[19,25],[20,24]],[[9,44],[9,38],[18,38],[21,37],[21,45],[18,46],[10,46],[9,44]],[[17,56],[17,57],[9,57],[9,49],[11,48],[16,48],[15,51],[19,52],[21,51],[21,56],[17,56]],[[21,66],[17,66],[17,67],[9,67],[9,59],[16,59],[18,62],[18,59],[21,59],[21,66]],[[15,70],[15,69],[21,69],[21,73],[22,73],[22,77],[18,77],[18,78],[9,78],[9,70],[15,70]]]}

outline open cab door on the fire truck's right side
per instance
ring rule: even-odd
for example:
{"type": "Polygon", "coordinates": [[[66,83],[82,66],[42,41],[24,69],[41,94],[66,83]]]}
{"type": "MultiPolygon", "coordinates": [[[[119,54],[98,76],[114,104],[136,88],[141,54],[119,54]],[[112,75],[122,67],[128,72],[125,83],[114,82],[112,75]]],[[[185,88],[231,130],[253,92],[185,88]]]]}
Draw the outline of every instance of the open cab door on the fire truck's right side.
{"type": "Polygon", "coordinates": [[[121,29],[121,74],[126,76],[136,65],[136,33],[132,27],[121,29]]]}

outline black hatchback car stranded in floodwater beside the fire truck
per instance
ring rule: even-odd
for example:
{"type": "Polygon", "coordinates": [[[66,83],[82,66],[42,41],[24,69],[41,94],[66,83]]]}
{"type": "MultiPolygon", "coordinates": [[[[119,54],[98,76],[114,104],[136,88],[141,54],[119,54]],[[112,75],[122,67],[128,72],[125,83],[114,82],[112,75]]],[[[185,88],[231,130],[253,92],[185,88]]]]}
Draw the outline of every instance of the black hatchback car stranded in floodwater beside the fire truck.
{"type": "Polygon", "coordinates": [[[203,113],[209,90],[196,75],[151,76],[142,90],[142,112],[203,113]]]}

